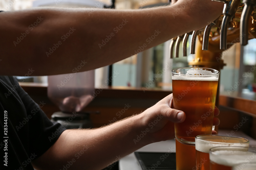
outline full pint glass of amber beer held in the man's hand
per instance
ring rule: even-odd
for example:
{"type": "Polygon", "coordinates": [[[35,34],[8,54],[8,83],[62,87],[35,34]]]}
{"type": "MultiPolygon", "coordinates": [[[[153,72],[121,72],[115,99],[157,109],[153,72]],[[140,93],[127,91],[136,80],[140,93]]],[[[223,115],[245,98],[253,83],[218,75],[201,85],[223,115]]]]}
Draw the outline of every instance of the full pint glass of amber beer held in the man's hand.
{"type": "Polygon", "coordinates": [[[174,109],[186,114],[183,123],[175,123],[176,139],[195,145],[198,135],[211,135],[219,71],[208,68],[172,70],[174,109]]]}

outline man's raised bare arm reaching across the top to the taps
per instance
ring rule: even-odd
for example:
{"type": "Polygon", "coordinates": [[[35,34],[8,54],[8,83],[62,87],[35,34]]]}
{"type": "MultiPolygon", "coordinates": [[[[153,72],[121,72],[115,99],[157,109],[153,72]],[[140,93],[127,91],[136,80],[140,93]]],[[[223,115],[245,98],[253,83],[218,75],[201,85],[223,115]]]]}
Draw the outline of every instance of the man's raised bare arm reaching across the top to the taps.
{"type": "Polygon", "coordinates": [[[211,0],[179,0],[142,10],[1,12],[0,74],[22,76],[31,68],[34,76],[71,73],[81,61],[87,63],[80,71],[106,66],[140,52],[139,47],[148,49],[205,27],[221,14],[221,6],[211,0]]]}

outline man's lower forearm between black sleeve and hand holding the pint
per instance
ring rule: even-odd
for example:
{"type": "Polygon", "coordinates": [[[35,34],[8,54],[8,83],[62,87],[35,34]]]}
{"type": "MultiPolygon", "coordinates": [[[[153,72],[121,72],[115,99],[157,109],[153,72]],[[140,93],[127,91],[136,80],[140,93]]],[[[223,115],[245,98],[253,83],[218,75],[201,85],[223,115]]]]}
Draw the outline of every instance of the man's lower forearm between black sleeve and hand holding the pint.
{"type": "Polygon", "coordinates": [[[150,143],[148,130],[141,129],[141,119],[137,115],[103,128],[66,130],[46,153],[35,160],[35,168],[59,170],[71,161],[70,170],[102,169],[150,143]],[[144,136],[137,139],[141,131],[144,136]]]}

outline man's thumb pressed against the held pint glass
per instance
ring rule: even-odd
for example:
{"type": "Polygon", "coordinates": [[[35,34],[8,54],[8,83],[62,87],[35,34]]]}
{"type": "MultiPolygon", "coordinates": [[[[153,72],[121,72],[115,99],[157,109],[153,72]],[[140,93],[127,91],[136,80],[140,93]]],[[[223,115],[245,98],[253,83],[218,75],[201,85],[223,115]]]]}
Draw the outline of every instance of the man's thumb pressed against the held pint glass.
{"type": "Polygon", "coordinates": [[[169,107],[166,107],[166,109],[163,110],[162,115],[166,119],[168,119],[174,123],[184,122],[184,120],[186,118],[186,115],[183,111],[171,109],[169,107]]]}

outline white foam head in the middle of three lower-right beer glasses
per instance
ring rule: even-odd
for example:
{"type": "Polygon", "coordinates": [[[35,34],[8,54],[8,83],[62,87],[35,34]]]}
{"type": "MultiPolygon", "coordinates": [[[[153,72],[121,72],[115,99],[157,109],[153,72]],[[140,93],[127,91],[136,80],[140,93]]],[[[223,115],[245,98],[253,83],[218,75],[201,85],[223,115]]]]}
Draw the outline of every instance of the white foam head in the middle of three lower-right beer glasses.
{"type": "Polygon", "coordinates": [[[219,165],[234,166],[256,161],[256,153],[249,151],[220,150],[215,152],[218,155],[210,154],[210,161],[219,165]]]}

